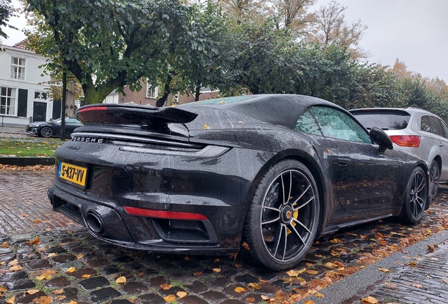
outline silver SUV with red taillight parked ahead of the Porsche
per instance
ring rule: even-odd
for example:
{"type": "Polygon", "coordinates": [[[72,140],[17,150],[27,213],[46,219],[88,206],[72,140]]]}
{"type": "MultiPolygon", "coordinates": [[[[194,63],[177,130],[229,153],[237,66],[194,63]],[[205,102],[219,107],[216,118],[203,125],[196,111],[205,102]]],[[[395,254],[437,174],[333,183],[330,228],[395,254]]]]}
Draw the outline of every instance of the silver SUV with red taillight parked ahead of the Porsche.
{"type": "Polygon", "coordinates": [[[430,168],[431,201],[439,182],[448,180],[448,126],[421,108],[363,108],[350,110],[366,129],[384,129],[394,148],[409,151],[430,168]]]}

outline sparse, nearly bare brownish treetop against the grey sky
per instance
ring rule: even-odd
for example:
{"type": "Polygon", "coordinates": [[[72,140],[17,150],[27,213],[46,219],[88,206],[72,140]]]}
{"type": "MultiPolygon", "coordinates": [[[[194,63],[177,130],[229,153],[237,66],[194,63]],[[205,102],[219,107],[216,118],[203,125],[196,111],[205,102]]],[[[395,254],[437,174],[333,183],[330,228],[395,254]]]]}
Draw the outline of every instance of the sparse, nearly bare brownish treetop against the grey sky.
{"type": "Polygon", "coordinates": [[[316,12],[313,32],[309,39],[318,42],[324,48],[335,44],[347,47],[356,56],[365,56],[364,51],[359,48],[359,41],[367,26],[362,25],[361,20],[347,24],[344,20],[346,9],[347,6],[341,6],[334,0],[330,1],[327,6],[322,6],[316,12]]]}

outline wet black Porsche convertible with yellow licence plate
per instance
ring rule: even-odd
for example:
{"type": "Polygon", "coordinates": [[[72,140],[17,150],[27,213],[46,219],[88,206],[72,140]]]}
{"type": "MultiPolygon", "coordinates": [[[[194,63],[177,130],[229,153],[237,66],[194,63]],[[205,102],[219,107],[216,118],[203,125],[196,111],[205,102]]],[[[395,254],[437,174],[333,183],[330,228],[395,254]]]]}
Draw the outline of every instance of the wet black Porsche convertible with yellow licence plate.
{"type": "Polygon", "coordinates": [[[219,255],[245,242],[261,265],[285,270],[319,236],[390,216],[416,223],[429,207],[423,160],[323,99],[101,104],[76,117],[49,198],[119,246],[219,255]]]}

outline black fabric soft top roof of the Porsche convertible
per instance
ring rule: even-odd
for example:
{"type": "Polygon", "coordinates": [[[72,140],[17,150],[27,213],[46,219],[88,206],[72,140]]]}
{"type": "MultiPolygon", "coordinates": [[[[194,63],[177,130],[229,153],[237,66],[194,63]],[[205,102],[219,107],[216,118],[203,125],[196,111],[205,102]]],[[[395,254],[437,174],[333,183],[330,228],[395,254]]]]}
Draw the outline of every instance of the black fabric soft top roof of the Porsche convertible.
{"type": "MultiPolygon", "coordinates": [[[[233,113],[248,116],[272,125],[280,125],[292,129],[299,116],[309,106],[336,106],[330,101],[316,97],[294,94],[262,94],[209,99],[185,103],[177,108],[197,113],[199,108],[212,107],[220,110],[230,110],[233,113]]],[[[342,109],[342,108],[340,108],[342,109]]]]}

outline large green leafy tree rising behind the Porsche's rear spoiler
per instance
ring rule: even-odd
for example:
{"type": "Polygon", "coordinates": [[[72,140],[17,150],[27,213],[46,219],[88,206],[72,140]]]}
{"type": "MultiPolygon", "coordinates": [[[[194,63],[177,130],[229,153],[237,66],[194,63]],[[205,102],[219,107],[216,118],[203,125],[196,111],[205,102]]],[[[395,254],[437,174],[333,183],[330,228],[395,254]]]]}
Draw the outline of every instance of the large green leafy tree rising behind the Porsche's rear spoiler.
{"type": "Polygon", "coordinates": [[[185,43],[189,8],[176,0],[26,0],[42,18],[33,34],[47,70],[68,71],[85,103],[101,103],[113,89],[156,82],[166,56],[185,43]],[[42,33],[42,34],[41,34],[42,33]]]}

